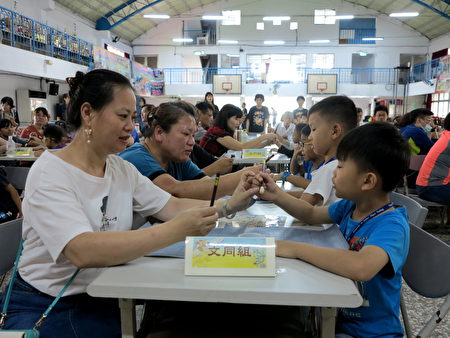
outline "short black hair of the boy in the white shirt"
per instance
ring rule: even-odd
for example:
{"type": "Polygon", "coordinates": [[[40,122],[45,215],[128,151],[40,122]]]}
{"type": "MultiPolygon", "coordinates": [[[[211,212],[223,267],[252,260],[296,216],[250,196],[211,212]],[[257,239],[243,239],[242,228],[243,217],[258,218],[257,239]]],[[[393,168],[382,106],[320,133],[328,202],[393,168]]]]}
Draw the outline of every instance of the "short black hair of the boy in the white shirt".
{"type": "Polygon", "coordinates": [[[344,128],[344,134],[356,128],[358,113],[355,103],[347,96],[329,96],[317,102],[308,112],[308,118],[319,113],[329,122],[336,122],[344,128]]]}

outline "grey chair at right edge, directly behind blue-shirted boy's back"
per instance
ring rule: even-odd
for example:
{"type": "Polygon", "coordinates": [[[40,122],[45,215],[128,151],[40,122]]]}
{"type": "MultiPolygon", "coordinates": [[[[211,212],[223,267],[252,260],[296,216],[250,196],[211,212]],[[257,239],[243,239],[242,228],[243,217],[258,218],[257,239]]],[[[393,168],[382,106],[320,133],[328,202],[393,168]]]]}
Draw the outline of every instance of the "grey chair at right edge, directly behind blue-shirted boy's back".
{"type": "MultiPolygon", "coordinates": [[[[403,267],[403,279],[419,295],[428,298],[446,297],[416,337],[429,337],[450,309],[450,246],[425,230],[410,223],[411,242],[403,267]]],[[[406,336],[413,337],[403,295],[400,298],[406,336]]]]}

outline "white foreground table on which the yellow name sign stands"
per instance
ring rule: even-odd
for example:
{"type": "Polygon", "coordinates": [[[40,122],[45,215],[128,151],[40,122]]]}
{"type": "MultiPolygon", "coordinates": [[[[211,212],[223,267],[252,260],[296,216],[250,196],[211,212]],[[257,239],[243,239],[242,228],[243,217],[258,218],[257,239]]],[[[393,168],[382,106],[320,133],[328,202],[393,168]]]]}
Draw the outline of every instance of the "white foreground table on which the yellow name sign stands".
{"type": "Polygon", "coordinates": [[[258,278],[185,276],[183,259],[143,257],[105,269],[87,292],[119,298],[122,337],[135,335],[135,299],[318,306],[322,337],[334,337],[335,308],[362,304],[353,281],[286,258],[277,258],[275,278],[258,278]]]}

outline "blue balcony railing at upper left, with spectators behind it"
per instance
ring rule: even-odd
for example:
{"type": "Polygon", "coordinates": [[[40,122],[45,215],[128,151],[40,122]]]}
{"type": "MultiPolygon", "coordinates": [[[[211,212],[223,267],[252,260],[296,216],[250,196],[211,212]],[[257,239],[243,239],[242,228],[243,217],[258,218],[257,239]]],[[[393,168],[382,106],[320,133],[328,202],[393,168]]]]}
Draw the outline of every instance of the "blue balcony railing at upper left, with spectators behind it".
{"type": "Polygon", "coordinates": [[[0,42],[70,62],[93,62],[92,44],[0,6],[0,42]]]}

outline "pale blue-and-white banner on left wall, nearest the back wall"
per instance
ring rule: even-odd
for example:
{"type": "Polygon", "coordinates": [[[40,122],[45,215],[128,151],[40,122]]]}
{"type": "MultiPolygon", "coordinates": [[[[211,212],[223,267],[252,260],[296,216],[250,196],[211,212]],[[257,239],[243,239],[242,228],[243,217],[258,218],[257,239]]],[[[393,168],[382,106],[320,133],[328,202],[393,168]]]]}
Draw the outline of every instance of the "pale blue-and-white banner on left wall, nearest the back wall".
{"type": "Polygon", "coordinates": [[[140,96],[164,95],[164,71],[148,68],[133,61],[133,83],[140,96]]]}

